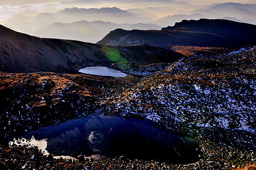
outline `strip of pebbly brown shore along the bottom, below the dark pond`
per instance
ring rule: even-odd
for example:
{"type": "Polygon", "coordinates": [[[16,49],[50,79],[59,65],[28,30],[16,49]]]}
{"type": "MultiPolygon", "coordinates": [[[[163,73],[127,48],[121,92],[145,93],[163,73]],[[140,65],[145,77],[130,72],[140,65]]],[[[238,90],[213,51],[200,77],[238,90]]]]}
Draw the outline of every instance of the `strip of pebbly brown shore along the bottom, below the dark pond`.
{"type": "Polygon", "coordinates": [[[125,156],[104,159],[54,159],[51,154],[43,155],[38,148],[28,146],[0,147],[1,169],[235,169],[255,168],[255,153],[242,153],[230,147],[219,147],[202,141],[199,162],[195,164],[171,164],[168,160],[139,160],[125,156]],[[251,165],[254,164],[254,165],[251,165]]]}

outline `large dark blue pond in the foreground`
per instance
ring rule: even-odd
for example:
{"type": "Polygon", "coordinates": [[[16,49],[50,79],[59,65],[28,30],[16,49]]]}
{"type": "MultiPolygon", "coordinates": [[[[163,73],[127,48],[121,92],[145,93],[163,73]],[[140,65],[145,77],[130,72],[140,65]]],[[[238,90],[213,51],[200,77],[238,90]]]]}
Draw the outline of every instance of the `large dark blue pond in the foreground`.
{"type": "Polygon", "coordinates": [[[46,150],[53,155],[126,155],[174,163],[195,163],[199,155],[195,139],[134,118],[90,116],[31,131],[24,137],[32,136],[46,139],[46,150]]]}

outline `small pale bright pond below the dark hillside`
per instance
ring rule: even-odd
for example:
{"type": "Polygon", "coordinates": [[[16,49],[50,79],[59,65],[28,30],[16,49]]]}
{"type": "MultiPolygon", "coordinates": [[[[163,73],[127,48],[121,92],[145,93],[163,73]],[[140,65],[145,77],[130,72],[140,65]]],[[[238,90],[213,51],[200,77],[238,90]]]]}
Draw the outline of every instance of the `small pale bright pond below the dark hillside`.
{"type": "Polygon", "coordinates": [[[124,77],[127,74],[121,71],[110,69],[108,67],[85,67],[79,70],[80,73],[102,75],[102,76],[114,76],[114,77],[124,77]]]}

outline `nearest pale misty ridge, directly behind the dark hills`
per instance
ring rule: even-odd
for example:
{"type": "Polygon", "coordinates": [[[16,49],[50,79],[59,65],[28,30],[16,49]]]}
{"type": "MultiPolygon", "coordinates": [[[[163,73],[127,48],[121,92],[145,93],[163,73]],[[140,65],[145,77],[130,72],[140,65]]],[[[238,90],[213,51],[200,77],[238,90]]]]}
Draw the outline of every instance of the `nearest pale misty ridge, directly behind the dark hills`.
{"type": "Polygon", "coordinates": [[[53,23],[51,25],[40,28],[35,32],[39,37],[51,37],[68,40],[79,40],[84,42],[97,42],[106,36],[110,31],[122,29],[158,29],[162,27],[156,24],[115,24],[110,22],[86,22],[79,21],[75,23],[53,23]]]}

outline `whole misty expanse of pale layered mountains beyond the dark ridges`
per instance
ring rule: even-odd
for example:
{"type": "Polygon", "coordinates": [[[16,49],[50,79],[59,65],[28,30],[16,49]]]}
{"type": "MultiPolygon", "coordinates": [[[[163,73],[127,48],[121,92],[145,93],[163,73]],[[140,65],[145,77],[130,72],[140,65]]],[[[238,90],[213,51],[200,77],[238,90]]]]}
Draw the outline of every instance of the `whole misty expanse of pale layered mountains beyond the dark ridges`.
{"type": "Polygon", "coordinates": [[[113,1],[115,6],[109,3],[110,7],[98,7],[96,5],[98,1],[51,2],[45,5],[28,3],[0,6],[0,24],[39,37],[59,39],[73,37],[72,40],[85,42],[97,42],[116,28],[159,30],[183,19],[220,18],[256,24],[254,17],[256,5],[253,1],[248,2],[250,4],[208,2],[203,5],[193,2],[159,1],[159,6],[152,5],[155,3],[151,1],[142,1],[133,5],[131,2],[128,5],[127,2],[113,1]],[[146,3],[148,5],[145,6],[146,3]],[[79,6],[76,6],[77,4],[79,6]],[[72,36],[74,32],[76,34],[72,36]]]}

